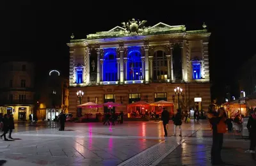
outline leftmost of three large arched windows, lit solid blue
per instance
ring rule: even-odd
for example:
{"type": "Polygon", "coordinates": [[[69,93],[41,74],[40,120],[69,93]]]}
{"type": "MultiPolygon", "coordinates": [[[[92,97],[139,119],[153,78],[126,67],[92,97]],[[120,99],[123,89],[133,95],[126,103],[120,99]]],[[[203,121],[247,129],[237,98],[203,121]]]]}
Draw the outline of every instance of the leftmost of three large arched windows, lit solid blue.
{"type": "Polygon", "coordinates": [[[115,53],[107,52],[104,55],[103,68],[103,81],[117,80],[117,63],[115,53]]]}

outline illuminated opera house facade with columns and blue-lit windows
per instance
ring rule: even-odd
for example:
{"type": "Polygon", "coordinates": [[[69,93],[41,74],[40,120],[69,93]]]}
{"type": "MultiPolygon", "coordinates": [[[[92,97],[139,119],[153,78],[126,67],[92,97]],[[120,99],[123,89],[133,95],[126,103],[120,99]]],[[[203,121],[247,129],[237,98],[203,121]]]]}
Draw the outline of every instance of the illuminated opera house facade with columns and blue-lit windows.
{"type": "MultiPolygon", "coordinates": [[[[88,34],[67,43],[70,51],[69,112],[76,115],[76,92],[84,92],[82,103],[127,104],[158,100],[173,102],[173,89],[182,87],[184,109],[197,105],[207,110],[211,103],[208,41],[204,29],[186,31],[185,26],[162,22],[147,27],[143,20],[129,20],[109,31],[88,34]]],[[[100,109],[102,110],[102,109],[100,109]]]]}

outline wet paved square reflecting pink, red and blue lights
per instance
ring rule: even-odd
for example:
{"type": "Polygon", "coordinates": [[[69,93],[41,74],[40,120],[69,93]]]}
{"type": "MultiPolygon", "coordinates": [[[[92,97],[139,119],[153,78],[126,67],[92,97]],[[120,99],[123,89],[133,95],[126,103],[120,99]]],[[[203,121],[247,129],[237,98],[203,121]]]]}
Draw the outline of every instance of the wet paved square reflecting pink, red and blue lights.
{"type": "MultiPolygon", "coordinates": [[[[0,141],[0,160],[7,160],[4,166],[22,164],[94,166],[136,165],[136,163],[138,165],[148,165],[148,163],[210,165],[211,132],[206,122],[182,125],[184,135],[182,138],[171,137],[173,124],[170,124],[168,130],[170,136],[166,139],[163,137],[163,124],[154,121],[125,122],[116,126],[103,126],[102,123],[67,123],[64,132],[58,131],[58,126],[58,123],[42,122],[37,126],[29,123],[15,124],[13,137],[20,140],[0,141]],[[192,137],[188,138],[188,136],[192,137]],[[156,151],[159,153],[158,156],[156,151]]],[[[236,137],[239,136],[225,135],[225,139],[235,140],[236,137]]],[[[232,151],[230,154],[243,156],[244,159],[237,162],[239,164],[250,160],[243,153],[248,147],[248,141],[242,144],[241,141],[225,142],[224,146],[234,147],[233,144],[237,145],[235,149],[224,148],[223,152],[232,151]]],[[[231,155],[228,156],[230,157],[231,155]]]]}

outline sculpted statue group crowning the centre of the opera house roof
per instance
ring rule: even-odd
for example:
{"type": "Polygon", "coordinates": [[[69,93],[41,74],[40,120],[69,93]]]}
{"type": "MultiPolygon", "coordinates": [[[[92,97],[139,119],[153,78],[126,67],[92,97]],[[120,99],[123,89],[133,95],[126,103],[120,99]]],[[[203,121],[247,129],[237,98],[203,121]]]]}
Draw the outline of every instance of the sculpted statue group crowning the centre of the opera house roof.
{"type": "Polygon", "coordinates": [[[129,20],[129,22],[122,22],[124,29],[129,32],[129,33],[133,33],[133,34],[138,34],[139,31],[142,31],[143,28],[145,27],[147,20],[129,20]]]}

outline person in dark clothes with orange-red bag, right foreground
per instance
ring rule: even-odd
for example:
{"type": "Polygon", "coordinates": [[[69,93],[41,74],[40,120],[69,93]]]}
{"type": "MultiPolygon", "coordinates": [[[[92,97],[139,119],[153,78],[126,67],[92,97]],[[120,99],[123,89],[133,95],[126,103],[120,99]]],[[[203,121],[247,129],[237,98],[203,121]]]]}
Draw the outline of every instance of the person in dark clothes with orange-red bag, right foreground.
{"type": "Polygon", "coordinates": [[[225,121],[227,117],[225,117],[223,109],[216,111],[214,104],[209,105],[207,117],[212,127],[211,163],[225,164],[221,159],[221,149],[223,145],[223,133],[226,132],[225,121]]]}

